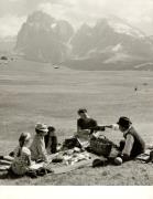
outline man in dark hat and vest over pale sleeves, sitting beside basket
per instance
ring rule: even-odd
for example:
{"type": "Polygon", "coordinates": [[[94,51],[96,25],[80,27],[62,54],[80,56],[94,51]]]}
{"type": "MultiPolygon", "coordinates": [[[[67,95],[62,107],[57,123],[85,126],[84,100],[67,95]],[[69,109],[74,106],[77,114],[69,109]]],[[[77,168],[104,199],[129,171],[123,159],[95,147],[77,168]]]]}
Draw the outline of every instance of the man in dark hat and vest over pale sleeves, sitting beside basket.
{"type": "MultiPolygon", "coordinates": [[[[107,126],[112,129],[119,129],[123,133],[123,140],[120,142],[119,150],[122,161],[135,158],[138,155],[144,153],[145,143],[140,134],[132,126],[132,122],[128,117],[120,117],[116,125],[107,126]]],[[[118,158],[118,157],[117,157],[118,158]]],[[[116,159],[114,159],[116,163],[116,159]]]]}

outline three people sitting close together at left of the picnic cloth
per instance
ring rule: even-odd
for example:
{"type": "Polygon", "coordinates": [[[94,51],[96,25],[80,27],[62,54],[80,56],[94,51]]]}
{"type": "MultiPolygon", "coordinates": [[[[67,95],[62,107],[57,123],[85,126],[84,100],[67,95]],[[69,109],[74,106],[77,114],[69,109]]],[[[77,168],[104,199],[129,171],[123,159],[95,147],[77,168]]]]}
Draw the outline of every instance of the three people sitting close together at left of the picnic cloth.
{"type": "Polygon", "coordinates": [[[19,137],[19,146],[9,156],[1,156],[0,159],[10,164],[10,172],[23,176],[32,171],[32,165],[35,163],[47,163],[48,155],[55,154],[56,150],[55,127],[36,124],[32,144],[31,134],[24,132],[19,137]]]}

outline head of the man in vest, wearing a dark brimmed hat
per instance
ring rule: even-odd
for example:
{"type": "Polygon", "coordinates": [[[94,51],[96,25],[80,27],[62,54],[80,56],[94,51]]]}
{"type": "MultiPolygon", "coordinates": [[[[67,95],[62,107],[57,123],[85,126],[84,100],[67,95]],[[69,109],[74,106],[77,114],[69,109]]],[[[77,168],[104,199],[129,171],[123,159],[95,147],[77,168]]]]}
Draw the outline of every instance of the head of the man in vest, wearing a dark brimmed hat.
{"type": "Polygon", "coordinates": [[[119,125],[119,129],[121,132],[124,132],[131,126],[132,123],[131,123],[130,118],[122,116],[119,118],[117,124],[119,125]]]}

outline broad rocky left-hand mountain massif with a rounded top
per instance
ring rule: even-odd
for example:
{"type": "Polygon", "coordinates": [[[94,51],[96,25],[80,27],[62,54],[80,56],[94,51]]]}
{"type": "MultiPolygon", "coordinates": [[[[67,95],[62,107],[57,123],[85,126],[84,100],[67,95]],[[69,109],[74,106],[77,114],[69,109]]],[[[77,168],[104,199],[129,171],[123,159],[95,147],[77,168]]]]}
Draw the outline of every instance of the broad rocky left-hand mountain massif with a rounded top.
{"type": "Polygon", "coordinates": [[[18,33],[17,49],[30,60],[61,62],[67,57],[67,42],[73,33],[74,29],[67,21],[36,11],[28,17],[18,33]]]}

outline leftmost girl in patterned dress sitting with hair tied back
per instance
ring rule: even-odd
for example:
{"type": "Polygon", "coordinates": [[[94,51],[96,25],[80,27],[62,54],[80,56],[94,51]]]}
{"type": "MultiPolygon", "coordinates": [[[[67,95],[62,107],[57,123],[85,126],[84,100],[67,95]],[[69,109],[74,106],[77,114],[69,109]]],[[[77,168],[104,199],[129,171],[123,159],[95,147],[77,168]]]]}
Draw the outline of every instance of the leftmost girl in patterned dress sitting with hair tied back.
{"type": "Polygon", "coordinates": [[[14,154],[14,159],[10,167],[10,171],[12,171],[14,175],[23,176],[30,170],[31,151],[28,148],[30,139],[30,133],[22,133],[19,138],[19,149],[17,154],[14,154]]]}

